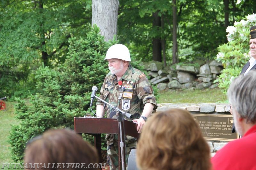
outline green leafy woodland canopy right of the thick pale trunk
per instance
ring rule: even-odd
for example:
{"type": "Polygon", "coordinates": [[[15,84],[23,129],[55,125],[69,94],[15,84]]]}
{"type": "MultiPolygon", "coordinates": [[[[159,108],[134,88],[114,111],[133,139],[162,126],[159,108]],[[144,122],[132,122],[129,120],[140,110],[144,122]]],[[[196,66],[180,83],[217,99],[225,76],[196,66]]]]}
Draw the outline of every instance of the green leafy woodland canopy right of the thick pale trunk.
{"type": "MultiPolygon", "coordinates": [[[[121,42],[129,44],[136,56],[150,61],[152,38],[164,38],[167,61],[171,61],[173,5],[172,1],[162,0],[120,0],[118,37],[121,42]],[[163,16],[164,29],[152,27],[154,12],[158,12],[159,17],[163,16]]],[[[241,1],[240,4],[236,0],[230,0],[227,11],[229,25],[248,13],[256,12],[255,5],[252,0],[241,1]]],[[[213,59],[217,54],[217,47],[227,42],[223,1],[180,0],[176,6],[178,50],[181,59],[213,59]]]]}

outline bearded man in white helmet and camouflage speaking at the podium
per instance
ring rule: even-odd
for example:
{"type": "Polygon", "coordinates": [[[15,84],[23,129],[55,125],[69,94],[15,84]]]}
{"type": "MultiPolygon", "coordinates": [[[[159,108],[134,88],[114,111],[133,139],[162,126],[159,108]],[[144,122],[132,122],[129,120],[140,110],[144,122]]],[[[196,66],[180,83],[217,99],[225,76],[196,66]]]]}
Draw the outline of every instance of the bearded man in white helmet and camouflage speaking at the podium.
{"type": "MultiPolygon", "coordinates": [[[[104,79],[100,89],[100,98],[111,105],[133,115],[133,120],[138,123],[137,130],[140,133],[142,127],[157,108],[156,98],[148,78],[140,70],[130,65],[130,53],[126,46],[116,44],[111,46],[106,54],[110,73],[104,79]]],[[[97,116],[102,117],[108,113],[108,118],[116,118],[116,110],[97,101],[97,116]]],[[[107,161],[111,169],[118,169],[118,142],[117,135],[106,135],[108,145],[107,161]]],[[[136,148],[137,139],[125,136],[126,163],[130,150],[136,148]]]]}

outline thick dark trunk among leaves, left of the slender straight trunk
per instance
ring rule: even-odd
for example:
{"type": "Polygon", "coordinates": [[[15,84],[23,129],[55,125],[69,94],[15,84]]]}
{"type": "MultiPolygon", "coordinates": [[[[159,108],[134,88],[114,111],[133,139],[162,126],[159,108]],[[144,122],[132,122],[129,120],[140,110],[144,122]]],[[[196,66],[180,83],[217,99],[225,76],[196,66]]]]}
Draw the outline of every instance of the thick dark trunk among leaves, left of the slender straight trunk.
{"type": "MultiPolygon", "coordinates": [[[[158,16],[158,11],[153,13],[153,27],[161,26],[161,18],[158,16]]],[[[157,28],[157,29],[158,29],[157,28]]],[[[162,47],[161,47],[161,38],[153,38],[153,60],[162,62],[162,47]]]]}

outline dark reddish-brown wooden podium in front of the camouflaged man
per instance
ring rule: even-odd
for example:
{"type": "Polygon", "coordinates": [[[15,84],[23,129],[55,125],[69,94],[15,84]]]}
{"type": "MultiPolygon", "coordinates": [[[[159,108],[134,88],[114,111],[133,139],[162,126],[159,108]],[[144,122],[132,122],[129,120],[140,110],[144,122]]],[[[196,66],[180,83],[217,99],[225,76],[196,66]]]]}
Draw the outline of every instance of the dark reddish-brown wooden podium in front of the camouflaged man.
{"type": "MultiPolygon", "coordinates": [[[[74,117],[74,129],[76,133],[86,133],[94,136],[94,146],[98,150],[98,154],[101,158],[101,133],[116,133],[118,134],[118,144],[120,143],[120,130],[118,128],[117,118],[84,118],[74,117]]],[[[122,137],[124,141],[124,134],[139,138],[137,131],[137,123],[123,120],[122,122],[122,137]]],[[[122,169],[121,163],[121,149],[118,147],[118,165],[119,169],[122,169]]],[[[125,158],[125,147],[124,147],[124,158],[125,158]]],[[[125,165],[125,159],[124,159],[125,165]]]]}

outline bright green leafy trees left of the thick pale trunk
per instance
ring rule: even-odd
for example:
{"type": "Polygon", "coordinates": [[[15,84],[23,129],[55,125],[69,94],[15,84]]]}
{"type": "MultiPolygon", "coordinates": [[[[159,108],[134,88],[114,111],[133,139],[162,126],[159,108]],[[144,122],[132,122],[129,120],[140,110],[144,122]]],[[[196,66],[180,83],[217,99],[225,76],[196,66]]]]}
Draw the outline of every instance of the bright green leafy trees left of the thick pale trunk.
{"type": "MultiPolygon", "coordinates": [[[[26,87],[28,84],[24,82],[29,81],[28,75],[35,73],[42,61],[50,67],[63,63],[68,38],[71,35],[84,37],[90,29],[90,20],[89,0],[1,1],[0,86],[3,95],[11,96],[26,87]]],[[[31,76],[30,83],[33,83],[33,74],[31,76]]]]}

